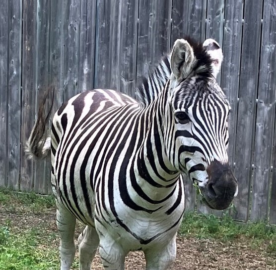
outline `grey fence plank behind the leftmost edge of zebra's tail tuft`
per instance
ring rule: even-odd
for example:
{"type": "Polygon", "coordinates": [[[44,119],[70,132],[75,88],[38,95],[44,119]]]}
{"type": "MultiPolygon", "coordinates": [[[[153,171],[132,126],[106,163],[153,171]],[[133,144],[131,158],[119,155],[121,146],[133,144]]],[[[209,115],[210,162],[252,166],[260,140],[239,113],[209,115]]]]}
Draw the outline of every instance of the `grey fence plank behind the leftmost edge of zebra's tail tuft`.
{"type": "Polygon", "coordinates": [[[23,1],[23,48],[22,48],[22,101],[21,101],[21,178],[20,189],[30,191],[34,183],[34,163],[27,160],[24,146],[35,122],[35,50],[36,2],[23,1]]]}

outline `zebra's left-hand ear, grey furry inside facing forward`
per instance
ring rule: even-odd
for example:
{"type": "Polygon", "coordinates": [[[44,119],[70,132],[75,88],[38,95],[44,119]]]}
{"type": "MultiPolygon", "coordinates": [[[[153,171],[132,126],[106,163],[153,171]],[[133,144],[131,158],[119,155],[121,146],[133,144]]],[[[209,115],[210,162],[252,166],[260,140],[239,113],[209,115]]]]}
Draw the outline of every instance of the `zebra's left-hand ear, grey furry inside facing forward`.
{"type": "Polygon", "coordinates": [[[177,80],[185,79],[193,70],[195,63],[193,48],[185,39],[177,39],[171,53],[171,70],[177,80]]]}

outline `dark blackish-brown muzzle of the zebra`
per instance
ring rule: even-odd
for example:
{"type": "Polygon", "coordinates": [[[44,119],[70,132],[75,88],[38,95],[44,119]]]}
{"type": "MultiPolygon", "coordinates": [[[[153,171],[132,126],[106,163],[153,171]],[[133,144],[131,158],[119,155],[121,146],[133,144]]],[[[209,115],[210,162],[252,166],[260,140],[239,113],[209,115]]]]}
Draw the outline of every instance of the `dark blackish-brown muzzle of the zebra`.
{"type": "Polygon", "coordinates": [[[205,188],[202,188],[205,203],[212,209],[223,210],[237,195],[237,180],[229,166],[216,160],[207,167],[209,177],[205,188]]]}

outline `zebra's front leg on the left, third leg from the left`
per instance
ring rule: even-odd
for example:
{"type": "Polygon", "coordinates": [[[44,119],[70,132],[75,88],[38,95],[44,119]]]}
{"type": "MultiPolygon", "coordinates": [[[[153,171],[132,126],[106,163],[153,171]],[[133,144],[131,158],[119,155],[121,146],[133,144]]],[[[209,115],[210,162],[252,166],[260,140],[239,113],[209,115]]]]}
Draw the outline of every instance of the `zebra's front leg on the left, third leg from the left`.
{"type": "Polygon", "coordinates": [[[106,270],[124,270],[126,253],[108,235],[100,236],[99,253],[106,270]]]}

